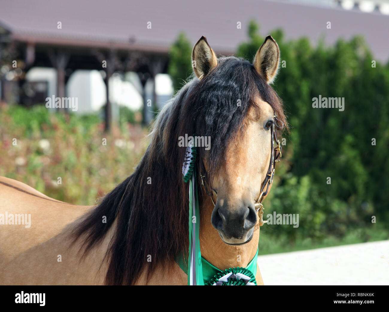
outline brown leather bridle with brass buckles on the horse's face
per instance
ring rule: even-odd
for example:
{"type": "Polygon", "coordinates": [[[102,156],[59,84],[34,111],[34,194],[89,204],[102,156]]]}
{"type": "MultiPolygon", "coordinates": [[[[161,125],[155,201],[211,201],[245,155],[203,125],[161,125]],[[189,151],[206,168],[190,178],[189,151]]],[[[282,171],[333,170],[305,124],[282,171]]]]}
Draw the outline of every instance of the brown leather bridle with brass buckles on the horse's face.
{"type": "MultiPolygon", "coordinates": [[[[275,163],[280,162],[279,158],[282,157],[282,154],[281,154],[282,148],[280,145],[280,141],[277,139],[277,136],[275,134],[275,130],[276,129],[281,130],[284,127],[284,123],[282,121],[280,121],[279,119],[277,119],[276,114],[274,114],[273,117],[274,117],[274,122],[272,123],[272,126],[270,127],[271,136],[272,136],[272,140],[271,140],[271,142],[272,142],[271,143],[272,155],[270,156],[270,164],[269,164],[268,172],[266,174],[266,178],[265,178],[265,180],[263,180],[263,182],[261,184],[261,192],[259,194],[259,197],[254,202],[254,208],[255,208],[256,212],[258,213],[258,217],[259,217],[259,226],[262,226],[267,222],[267,220],[263,220],[263,209],[264,208],[263,208],[262,200],[267,195],[269,188],[270,188],[270,185],[273,183],[273,176],[275,173],[275,163]],[[281,123],[281,125],[279,125],[279,123],[281,123]],[[277,143],[276,147],[274,147],[274,142],[277,143]]],[[[205,184],[207,183],[207,180],[205,179],[205,175],[200,173],[200,177],[201,177],[201,183],[203,185],[205,192],[207,194],[209,194],[207,192],[207,187],[205,186],[205,184]]],[[[212,190],[212,192],[217,197],[216,192],[214,190],[212,190]]],[[[212,203],[215,206],[216,204],[215,204],[215,201],[213,198],[213,194],[211,194],[210,197],[212,199],[212,203]]]]}

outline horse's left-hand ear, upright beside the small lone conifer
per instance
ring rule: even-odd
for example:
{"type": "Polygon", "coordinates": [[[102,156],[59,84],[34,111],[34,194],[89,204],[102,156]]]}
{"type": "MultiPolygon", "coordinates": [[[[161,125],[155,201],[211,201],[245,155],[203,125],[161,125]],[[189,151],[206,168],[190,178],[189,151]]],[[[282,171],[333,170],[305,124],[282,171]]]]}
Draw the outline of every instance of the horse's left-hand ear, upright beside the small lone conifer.
{"type": "Polygon", "coordinates": [[[204,78],[209,71],[217,65],[217,57],[207,42],[207,38],[202,36],[195,44],[192,51],[192,68],[199,79],[204,78]]]}

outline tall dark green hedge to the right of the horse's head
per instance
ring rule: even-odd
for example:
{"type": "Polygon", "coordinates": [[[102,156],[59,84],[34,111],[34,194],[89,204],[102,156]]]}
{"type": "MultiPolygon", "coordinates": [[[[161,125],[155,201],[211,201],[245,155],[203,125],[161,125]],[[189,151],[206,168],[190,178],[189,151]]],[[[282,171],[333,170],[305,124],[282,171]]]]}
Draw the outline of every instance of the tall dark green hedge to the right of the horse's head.
{"type": "MultiPolygon", "coordinates": [[[[249,60],[264,40],[255,25],[250,23],[249,42],[238,47],[238,56],[249,60]]],[[[300,225],[265,225],[263,240],[278,246],[269,251],[389,238],[389,64],[372,67],[361,37],[312,47],[307,38],[285,42],[280,30],[271,35],[286,61],[273,87],[292,132],[264,216],[298,213],[300,225]],[[344,111],[312,108],[319,95],[344,97],[344,111]]]]}

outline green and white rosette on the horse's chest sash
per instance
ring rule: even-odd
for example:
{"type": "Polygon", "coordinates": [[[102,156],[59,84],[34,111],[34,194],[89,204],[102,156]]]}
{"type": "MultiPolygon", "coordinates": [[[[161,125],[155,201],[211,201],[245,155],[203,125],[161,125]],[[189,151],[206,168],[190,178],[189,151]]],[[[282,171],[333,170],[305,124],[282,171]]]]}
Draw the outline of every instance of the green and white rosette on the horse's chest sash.
{"type": "Polygon", "coordinates": [[[247,286],[247,285],[256,285],[257,281],[255,279],[254,274],[250,270],[247,270],[247,268],[228,268],[227,270],[224,270],[220,273],[217,273],[209,282],[207,282],[205,285],[212,286],[212,285],[238,285],[238,286],[247,286]],[[228,278],[226,276],[232,273],[228,278]],[[245,275],[246,277],[249,277],[250,279],[242,278],[240,274],[245,275]],[[224,277],[224,278],[223,278],[224,277]],[[219,279],[222,279],[222,281],[219,281],[219,279]]]}

